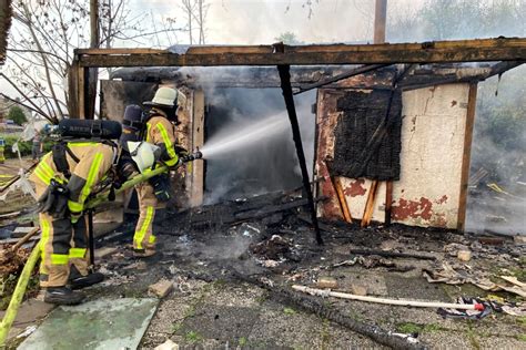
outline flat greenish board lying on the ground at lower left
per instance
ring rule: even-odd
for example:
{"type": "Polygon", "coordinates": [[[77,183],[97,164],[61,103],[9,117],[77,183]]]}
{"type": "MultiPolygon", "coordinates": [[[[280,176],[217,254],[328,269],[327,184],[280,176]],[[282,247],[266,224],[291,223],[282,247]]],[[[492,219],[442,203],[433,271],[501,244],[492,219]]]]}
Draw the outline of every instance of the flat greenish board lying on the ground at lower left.
{"type": "Polygon", "coordinates": [[[59,307],[18,349],[136,349],[158,303],[122,298],[59,307]]]}

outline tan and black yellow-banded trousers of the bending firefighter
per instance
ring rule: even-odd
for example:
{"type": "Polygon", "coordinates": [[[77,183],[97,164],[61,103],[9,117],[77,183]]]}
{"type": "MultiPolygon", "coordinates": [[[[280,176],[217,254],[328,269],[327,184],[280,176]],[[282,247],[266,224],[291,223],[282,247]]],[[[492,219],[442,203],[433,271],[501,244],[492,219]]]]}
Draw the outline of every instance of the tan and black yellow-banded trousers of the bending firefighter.
{"type": "MultiPolygon", "coordinates": [[[[37,186],[38,196],[44,191],[45,187],[37,186]]],[[[42,231],[40,286],[65,286],[71,265],[82,276],[87,276],[89,274],[87,215],[80,217],[75,224],[71,224],[69,217],[57,219],[40,213],[39,220],[42,231]]]]}

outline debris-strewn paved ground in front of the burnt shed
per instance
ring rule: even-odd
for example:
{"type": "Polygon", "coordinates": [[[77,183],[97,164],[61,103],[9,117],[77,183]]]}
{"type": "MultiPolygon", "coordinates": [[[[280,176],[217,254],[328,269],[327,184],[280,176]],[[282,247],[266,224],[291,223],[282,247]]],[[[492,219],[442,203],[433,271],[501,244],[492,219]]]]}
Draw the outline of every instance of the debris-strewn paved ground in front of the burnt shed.
{"type": "Polygon", "coordinates": [[[331,297],[305,299],[291,289],[293,284],[357,296],[445,302],[496,296],[502,299],[490,302],[499,311],[469,327],[500,329],[478,339],[482,344],[522,344],[520,326],[514,326],[513,319],[502,320],[525,312],[524,299],[515,292],[524,284],[524,245],[512,237],[402,225],[361,228],[322,220],[325,245],[318,246],[300,200],[293,194],[269,194],[164,215],[155,223],[159,255],[144,260],[134,258],[127,247],[134,218],[127,220],[118,231],[95,243],[97,264],[107,279],[87,290],[89,299],[144,298],[151,294],[151,285],[164,281],[170,286],[170,292],[160,294],[160,309],[142,340],[144,348],[168,340],[168,346],[183,348],[240,343],[338,348],[350,343],[377,347],[378,339],[373,341],[360,332],[361,327],[371,325],[392,339],[407,334],[406,323],[415,323],[419,346],[442,344],[434,332],[456,339],[451,346],[469,346],[471,340],[467,332],[459,333],[463,325],[452,325],[436,309],[331,297]],[[471,259],[458,259],[458,251],[467,250],[471,259]],[[452,285],[458,288],[448,288],[452,285]],[[321,322],[318,316],[328,317],[328,323],[321,322]],[[292,326],[296,322],[300,328],[292,326]],[[274,332],[274,323],[281,332],[274,332]],[[287,328],[291,332],[283,331],[287,328]],[[323,329],[335,338],[322,342],[312,338],[323,329]],[[293,336],[300,333],[303,336],[293,336]]]}

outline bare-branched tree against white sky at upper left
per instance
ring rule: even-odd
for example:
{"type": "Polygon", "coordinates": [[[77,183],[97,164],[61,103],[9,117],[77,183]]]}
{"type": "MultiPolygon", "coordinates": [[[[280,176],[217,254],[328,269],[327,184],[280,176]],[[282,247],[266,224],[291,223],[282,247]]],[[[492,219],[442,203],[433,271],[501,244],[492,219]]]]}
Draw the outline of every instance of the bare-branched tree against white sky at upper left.
{"type": "MultiPolygon", "coordinates": [[[[145,30],[149,14],[133,16],[129,0],[98,2],[100,40],[93,47],[111,48],[115,41],[136,45],[140,40],[151,42],[160,32],[178,30],[172,25],[145,30]]],[[[90,1],[13,1],[8,63],[0,78],[20,94],[20,104],[52,122],[72,115],[67,78],[73,50],[90,47],[89,6],[90,1]]]]}

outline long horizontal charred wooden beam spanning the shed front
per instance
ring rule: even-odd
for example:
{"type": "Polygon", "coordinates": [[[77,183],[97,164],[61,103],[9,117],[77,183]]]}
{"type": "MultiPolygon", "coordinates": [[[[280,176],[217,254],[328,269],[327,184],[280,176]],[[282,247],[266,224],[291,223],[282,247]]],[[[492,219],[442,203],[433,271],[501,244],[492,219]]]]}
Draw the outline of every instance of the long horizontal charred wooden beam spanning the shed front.
{"type": "Polygon", "coordinates": [[[190,47],[182,54],[150,49],[75,50],[75,59],[81,66],[393,64],[520,61],[525,58],[526,38],[284,45],[282,53],[276,53],[273,45],[190,47]]]}

